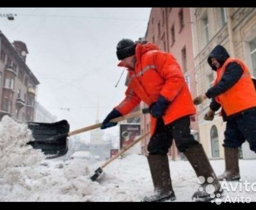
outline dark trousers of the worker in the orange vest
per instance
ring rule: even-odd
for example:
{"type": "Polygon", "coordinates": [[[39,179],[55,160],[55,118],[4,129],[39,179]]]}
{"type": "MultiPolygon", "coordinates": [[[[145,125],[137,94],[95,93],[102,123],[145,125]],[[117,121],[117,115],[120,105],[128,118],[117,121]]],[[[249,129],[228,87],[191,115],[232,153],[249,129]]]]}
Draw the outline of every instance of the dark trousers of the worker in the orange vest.
{"type": "Polygon", "coordinates": [[[241,113],[227,120],[224,136],[224,147],[241,147],[247,140],[250,149],[256,152],[256,112],[241,113]]]}

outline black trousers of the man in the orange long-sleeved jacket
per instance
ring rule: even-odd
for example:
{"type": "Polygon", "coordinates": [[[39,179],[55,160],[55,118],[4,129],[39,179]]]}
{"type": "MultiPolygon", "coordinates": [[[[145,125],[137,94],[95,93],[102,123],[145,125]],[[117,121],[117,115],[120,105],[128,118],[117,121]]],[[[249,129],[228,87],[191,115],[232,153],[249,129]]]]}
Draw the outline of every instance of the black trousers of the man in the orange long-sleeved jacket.
{"type": "Polygon", "coordinates": [[[155,133],[148,143],[149,154],[167,154],[172,146],[173,139],[180,152],[184,152],[190,147],[199,144],[194,136],[191,135],[189,116],[177,119],[168,125],[164,125],[163,119],[159,118],[155,133]]]}

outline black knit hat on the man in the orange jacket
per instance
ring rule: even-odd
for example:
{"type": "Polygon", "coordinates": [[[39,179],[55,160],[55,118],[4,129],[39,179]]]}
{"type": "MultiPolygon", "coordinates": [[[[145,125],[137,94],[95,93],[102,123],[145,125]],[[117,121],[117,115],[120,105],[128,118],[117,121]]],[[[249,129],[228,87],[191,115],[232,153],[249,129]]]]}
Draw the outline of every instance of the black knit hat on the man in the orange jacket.
{"type": "Polygon", "coordinates": [[[129,38],[123,38],[116,46],[116,55],[119,60],[135,55],[136,43],[129,38]]]}

